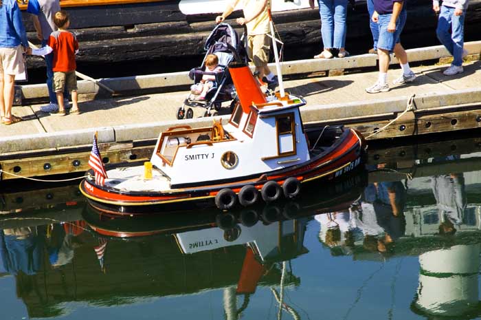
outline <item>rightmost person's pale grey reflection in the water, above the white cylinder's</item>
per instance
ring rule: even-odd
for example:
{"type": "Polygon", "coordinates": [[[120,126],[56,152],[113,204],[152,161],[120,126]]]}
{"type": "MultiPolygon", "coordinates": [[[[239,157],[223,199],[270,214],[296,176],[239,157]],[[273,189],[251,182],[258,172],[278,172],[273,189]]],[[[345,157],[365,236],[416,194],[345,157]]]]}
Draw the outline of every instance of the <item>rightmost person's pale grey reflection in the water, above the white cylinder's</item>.
{"type": "Polygon", "coordinates": [[[434,175],[431,188],[438,207],[439,234],[454,235],[456,226],[462,224],[467,206],[465,177],[462,173],[434,175]]]}

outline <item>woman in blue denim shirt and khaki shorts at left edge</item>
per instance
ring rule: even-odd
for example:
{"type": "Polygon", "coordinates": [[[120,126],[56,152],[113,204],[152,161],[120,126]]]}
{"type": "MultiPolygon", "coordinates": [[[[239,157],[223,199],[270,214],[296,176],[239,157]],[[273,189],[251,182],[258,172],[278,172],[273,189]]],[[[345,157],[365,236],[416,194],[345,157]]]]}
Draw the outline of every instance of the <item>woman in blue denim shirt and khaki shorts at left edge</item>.
{"type": "Polygon", "coordinates": [[[12,114],[15,75],[25,71],[23,53],[28,41],[16,0],[0,0],[0,123],[11,125],[22,118],[12,114]]]}

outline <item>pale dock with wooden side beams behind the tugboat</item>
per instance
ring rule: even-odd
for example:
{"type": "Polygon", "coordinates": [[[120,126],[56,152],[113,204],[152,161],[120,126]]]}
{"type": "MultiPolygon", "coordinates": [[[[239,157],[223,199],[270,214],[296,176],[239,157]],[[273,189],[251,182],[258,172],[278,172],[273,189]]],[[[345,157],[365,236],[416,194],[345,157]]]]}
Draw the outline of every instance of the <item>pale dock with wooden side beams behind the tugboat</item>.
{"type": "MultiPolygon", "coordinates": [[[[481,126],[481,41],[466,43],[465,48],[469,53],[465,72],[456,76],[442,73],[450,62],[443,46],[407,50],[412,65],[418,62],[413,68],[416,81],[390,85],[389,92],[365,92],[377,81],[374,54],[284,62],[284,87],[305,98],[304,125],[344,124],[368,140],[476,129],[481,126]]],[[[394,56],[392,63],[396,63],[394,56]]],[[[391,67],[389,81],[400,72],[398,65],[391,67]]],[[[14,106],[13,113],[24,121],[0,125],[0,168],[4,171],[0,180],[89,169],[95,132],[104,162],[118,163],[150,158],[159,132],[168,127],[212,125],[212,117],[202,117],[202,108],[194,109],[192,119],[176,118],[192,84],[187,74],[99,79],[118,93],[111,97],[98,85],[79,81],[82,114],[65,117],[40,111],[44,103],[38,102],[47,96],[45,85],[21,87],[23,105],[14,106]]],[[[224,123],[229,112],[228,104],[219,111],[224,123]]]]}

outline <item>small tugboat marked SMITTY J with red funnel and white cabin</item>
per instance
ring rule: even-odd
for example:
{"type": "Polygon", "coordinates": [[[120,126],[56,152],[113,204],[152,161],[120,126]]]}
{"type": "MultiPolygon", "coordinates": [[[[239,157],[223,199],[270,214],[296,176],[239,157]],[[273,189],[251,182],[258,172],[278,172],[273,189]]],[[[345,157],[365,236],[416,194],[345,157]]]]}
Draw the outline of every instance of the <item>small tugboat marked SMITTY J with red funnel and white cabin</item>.
{"type": "Polygon", "coordinates": [[[112,214],[158,213],[212,202],[230,210],[260,198],[295,198],[302,184],[353,171],[366,149],[361,134],[342,126],[304,129],[300,107],[306,101],[284,92],[277,67],[280,90],[267,94],[236,55],[229,68],[238,104],[227,124],[214,120],[212,127],[170,127],[159,135],[150,162],[107,167],[108,178],[100,181],[88,171],[80,191],[96,209],[112,214]]]}

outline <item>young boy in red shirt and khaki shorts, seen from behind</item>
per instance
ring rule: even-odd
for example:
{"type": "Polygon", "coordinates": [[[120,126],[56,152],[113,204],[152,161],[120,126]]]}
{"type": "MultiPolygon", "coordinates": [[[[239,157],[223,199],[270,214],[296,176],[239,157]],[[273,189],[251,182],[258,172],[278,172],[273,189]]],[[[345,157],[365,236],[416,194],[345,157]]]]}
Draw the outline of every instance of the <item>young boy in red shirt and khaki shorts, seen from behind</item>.
{"type": "Polygon", "coordinates": [[[70,26],[69,14],[63,10],[55,13],[54,23],[58,30],[50,34],[47,45],[32,54],[45,55],[54,52],[54,92],[57,95],[58,111],[50,112],[54,116],[65,116],[63,90],[71,91],[72,108],[70,114],[80,114],[78,109],[77,76],[75,74],[75,54],[78,52],[78,42],[73,33],[67,31],[70,26]]]}

